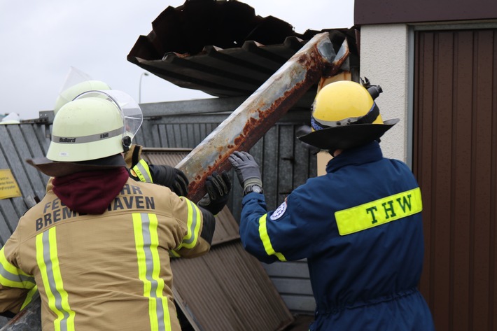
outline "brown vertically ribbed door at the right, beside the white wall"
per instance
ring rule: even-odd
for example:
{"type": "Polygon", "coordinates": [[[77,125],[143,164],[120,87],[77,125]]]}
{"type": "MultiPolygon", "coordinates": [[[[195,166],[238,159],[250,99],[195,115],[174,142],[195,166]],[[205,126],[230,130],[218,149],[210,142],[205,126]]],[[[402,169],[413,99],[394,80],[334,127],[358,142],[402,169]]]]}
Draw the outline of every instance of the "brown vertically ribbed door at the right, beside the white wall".
{"type": "Polygon", "coordinates": [[[437,330],[497,330],[497,30],[416,31],[421,291],[437,330]]]}

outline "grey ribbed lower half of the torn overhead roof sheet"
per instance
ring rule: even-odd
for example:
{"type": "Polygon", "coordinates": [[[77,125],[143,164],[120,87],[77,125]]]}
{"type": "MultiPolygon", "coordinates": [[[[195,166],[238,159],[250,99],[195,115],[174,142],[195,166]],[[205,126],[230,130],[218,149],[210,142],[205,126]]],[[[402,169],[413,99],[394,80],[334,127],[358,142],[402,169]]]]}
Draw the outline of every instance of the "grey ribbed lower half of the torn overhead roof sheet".
{"type": "Polygon", "coordinates": [[[289,37],[288,43],[281,45],[265,46],[247,41],[241,48],[229,50],[207,46],[195,56],[169,52],[161,59],[128,59],[180,87],[201,90],[216,97],[235,97],[257,90],[304,44],[300,39],[289,37]],[[288,48],[295,44],[300,47],[288,48]]]}

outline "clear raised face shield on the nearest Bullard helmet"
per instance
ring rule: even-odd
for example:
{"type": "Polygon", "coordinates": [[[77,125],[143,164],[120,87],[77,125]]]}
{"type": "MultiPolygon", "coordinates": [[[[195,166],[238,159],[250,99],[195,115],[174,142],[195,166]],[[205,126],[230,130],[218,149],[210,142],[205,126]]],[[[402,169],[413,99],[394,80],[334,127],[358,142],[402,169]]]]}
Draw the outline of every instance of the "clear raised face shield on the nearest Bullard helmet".
{"type": "Polygon", "coordinates": [[[141,113],[141,108],[137,102],[125,92],[118,90],[87,91],[80,94],[76,97],[76,99],[83,99],[87,97],[104,98],[116,104],[123,118],[123,139],[125,139],[126,136],[129,136],[131,144],[132,139],[137,134],[139,128],[141,127],[141,123],[144,120],[144,115],[141,113]]]}

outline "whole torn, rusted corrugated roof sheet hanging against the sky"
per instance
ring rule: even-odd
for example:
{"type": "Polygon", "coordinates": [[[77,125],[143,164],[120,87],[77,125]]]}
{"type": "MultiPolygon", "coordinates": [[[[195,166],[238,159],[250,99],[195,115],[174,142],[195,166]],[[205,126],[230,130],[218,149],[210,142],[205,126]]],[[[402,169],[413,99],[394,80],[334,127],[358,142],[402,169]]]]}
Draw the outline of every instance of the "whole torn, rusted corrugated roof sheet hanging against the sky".
{"type": "MultiPolygon", "coordinates": [[[[215,97],[252,94],[314,34],[297,34],[276,17],[260,17],[239,1],[186,1],[167,7],[139,36],[128,61],[180,87],[215,97]]],[[[334,45],[352,29],[330,30],[334,45]]]]}

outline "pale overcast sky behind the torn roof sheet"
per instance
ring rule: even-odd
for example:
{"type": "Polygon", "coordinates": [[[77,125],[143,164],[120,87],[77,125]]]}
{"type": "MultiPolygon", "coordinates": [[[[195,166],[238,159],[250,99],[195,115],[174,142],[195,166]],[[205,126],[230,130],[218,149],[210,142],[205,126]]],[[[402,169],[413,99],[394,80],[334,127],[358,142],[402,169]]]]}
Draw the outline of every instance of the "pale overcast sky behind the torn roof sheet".
{"type": "MultiPolygon", "coordinates": [[[[272,15],[307,29],[353,25],[353,0],[241,0],[262,17],[272,15]],[[303,5],[304,3],[304,5],[303,5]]],[[[71,66],[139,100],[144,72],[126,57],[140,35],[168,6],[184,0],[0,0],[0,113],[38,118],[53,109],[71,66]]],[[[210,97],[144,76],[141,102],[210,97]]]]}

